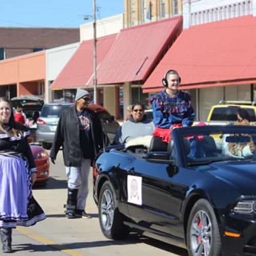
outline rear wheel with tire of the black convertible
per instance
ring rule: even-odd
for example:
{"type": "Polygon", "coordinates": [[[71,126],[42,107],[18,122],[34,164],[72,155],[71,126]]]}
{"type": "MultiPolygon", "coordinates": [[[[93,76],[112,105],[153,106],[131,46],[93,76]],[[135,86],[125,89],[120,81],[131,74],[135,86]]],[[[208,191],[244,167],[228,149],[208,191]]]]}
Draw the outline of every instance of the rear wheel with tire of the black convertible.
{"type": "Polygon", "coordinates": [[[129,234],[129,228],[123,224],[123,216],[117,207],[115,190],[109,181],[105,181],[100,189],[99,223],[106,238],[117,240],[129,234]]]}

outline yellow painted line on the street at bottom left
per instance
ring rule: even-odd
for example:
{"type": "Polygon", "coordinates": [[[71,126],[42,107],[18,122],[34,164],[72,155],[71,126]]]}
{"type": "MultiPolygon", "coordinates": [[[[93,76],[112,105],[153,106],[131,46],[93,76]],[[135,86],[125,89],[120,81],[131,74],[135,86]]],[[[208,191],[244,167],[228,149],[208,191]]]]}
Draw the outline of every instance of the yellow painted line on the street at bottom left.
{"type": "Polygon", "coordinates": [[[40,243],[46,244],[50,247],[53,247],[54,249],[57,249],[58,251],[65,252],[65,253],[67,253],[69,255],[72,255],[72,256],[84,256],[84,254],[78,253],[74,250],[65,249],[65,246],[59,245],[59,244],[57,244],[57,243],[55,243],[51,240],[48,240],[47,238],[41,237],[41,236],[39,236],[39,234],[34,233],[32,231],[29,231],[24,227],[17,226],[16,229],[17,229],[18,232],[26,234],[26,236],[28,236],[28,237],[30,237],[30,238],[32,238],[32,239],[34,239],[34,240],[36,240],[40,243]]]}

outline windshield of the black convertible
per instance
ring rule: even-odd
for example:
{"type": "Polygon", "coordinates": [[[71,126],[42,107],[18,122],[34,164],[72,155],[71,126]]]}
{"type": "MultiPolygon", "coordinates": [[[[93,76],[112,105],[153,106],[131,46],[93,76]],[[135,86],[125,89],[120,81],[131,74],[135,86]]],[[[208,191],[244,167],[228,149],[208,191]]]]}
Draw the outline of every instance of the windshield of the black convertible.
{"type": "Polygon", "coordinates": [[[207,127],[200,129],[200,132],[196,129],[190,133],[183,133],[183,150],[188,165],[216,161],[256,160],[255,128],[245,129],[245,126],[241,126],[232,125],[231,127],[234,128],[230,129],[227,126],[219,131],[207,127]]]}

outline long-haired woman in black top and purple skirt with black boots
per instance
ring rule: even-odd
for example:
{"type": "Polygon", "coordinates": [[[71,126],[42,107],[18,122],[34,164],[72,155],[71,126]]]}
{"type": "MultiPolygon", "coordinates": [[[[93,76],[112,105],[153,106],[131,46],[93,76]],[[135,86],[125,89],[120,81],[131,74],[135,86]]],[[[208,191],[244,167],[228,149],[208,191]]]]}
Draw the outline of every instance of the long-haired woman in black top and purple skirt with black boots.
{"type": "Polygon", "coordinates": [[[12,228],[46,218],[32,196],[36,166],[27,140],[30,131],[15,122],[11,102],[0,98],[0,234],[2,251],[11,252],[12,228]]]}

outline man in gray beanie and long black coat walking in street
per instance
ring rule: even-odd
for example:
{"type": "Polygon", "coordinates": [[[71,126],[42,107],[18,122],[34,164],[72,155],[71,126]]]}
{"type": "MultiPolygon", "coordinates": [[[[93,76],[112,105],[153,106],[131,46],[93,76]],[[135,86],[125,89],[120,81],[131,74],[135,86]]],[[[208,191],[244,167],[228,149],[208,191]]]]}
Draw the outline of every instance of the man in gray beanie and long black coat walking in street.
{"type": "Polygon", "coordinates": [[[53,163],[60,146],[68,178],[66,216],[90,218],[84,211],[88,196],[90,165],[103,147],[103,131],[99,118],[88,109],[90,93],[77,89],[75,104],[63,110],[57,125],[50,158],[53,163]]]}

